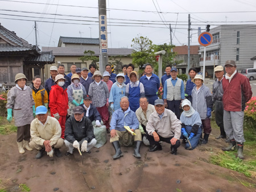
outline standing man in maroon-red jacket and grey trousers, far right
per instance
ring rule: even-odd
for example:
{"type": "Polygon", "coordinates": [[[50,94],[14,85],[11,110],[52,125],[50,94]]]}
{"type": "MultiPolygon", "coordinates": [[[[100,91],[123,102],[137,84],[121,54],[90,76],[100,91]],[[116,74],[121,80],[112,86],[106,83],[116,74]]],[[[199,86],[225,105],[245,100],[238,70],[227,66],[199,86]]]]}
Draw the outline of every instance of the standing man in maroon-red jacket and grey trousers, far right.
{"type": "Polygon", "coordinates": [[[238,147],[238,157],[243,159],[243,116],[245,103],[253,94],[249,79],[237,72],[236,62],[228,60],[225,63],[226,75],[222,80],[223,106],[224,106],[224,129],[230,139],[229,147],[223,151],[231,151],[234,146],[238,147]]]}

